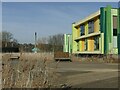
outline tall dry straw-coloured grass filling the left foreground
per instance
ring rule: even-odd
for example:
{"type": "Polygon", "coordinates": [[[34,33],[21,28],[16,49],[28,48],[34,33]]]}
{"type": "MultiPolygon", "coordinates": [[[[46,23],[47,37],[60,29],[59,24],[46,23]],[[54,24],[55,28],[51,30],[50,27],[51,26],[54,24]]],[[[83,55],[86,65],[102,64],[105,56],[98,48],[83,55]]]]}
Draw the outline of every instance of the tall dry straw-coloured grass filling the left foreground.
{"type": "Polygon", "coordinates": [[[3,88],[51,88],[58,87],[58,74],[55,69],[47,67],[53,60],[49,53],[22,53],[19,60],[11,60],[14,54],[3,55],[3,88]],[[57,82],[56,82],[57,81],[57,82]]]}

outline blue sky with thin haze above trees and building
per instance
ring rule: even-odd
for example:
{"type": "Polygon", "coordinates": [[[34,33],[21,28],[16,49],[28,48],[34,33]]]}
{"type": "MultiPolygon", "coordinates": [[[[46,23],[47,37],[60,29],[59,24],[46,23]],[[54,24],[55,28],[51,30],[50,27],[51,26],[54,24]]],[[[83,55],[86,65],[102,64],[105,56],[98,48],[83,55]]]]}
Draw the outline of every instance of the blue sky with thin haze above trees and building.
{"type": "Polygon", "coordinates": [[[38,37],[71,33],[72,23],[117,2],[3,2],[2,30],[13,33],[20,43],[34,43],[38,37]]]}

